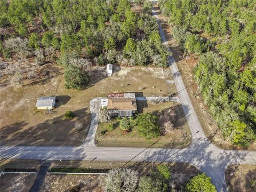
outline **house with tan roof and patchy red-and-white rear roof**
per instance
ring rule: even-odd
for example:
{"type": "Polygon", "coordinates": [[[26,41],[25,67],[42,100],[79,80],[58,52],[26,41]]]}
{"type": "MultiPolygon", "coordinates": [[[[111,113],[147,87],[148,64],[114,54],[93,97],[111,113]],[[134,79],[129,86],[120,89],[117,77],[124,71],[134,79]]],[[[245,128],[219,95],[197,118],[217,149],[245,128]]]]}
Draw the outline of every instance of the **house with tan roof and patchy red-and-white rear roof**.
{"type": "Polygon", "coordinates": [[[109,114],[119,117],[131,117],[137,111],[135,93],[108,94],[107,109],[109,114]]]}

